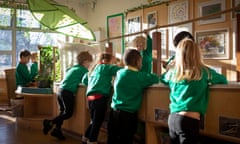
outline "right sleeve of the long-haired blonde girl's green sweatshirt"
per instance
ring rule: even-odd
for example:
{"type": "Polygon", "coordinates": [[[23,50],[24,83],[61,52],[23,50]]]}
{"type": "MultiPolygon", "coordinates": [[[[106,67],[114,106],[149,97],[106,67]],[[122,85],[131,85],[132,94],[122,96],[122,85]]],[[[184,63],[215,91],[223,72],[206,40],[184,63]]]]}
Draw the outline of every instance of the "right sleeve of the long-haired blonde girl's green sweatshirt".
{"type": "Polygon", "coordinates": [[[209,68],[209,83],[210,84],[227,84],[226,77],[222,74],[217,73],[215,70],[209,68]]]}

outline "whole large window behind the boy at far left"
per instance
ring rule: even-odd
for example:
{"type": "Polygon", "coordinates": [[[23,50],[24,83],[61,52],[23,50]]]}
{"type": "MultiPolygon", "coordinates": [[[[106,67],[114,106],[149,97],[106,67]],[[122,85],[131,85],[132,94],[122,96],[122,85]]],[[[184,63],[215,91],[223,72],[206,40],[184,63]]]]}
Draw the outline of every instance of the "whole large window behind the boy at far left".
{"type": "Polygon", "coordinates": [[[29,10],[16,7],[0,7],[0,74],[17,65],[22,49],[38,51],[38,45],[58,46],[58,41],[66,40],[65,35],[42,26],[29,10]]]}

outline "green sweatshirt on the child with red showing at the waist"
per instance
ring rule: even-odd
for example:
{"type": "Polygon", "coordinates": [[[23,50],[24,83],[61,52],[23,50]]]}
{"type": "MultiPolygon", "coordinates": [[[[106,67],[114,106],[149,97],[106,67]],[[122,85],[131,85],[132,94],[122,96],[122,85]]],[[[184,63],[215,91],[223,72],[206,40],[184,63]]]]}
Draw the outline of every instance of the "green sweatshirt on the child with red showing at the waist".
{"type": "Polygon", "coordinates": [[[85,74],[83,84],[87,85],[86,95],[102,94],[108,96],[112,94],[112,78],[121,67],[110,64],[98,64],[90,75],[85,74]]]}

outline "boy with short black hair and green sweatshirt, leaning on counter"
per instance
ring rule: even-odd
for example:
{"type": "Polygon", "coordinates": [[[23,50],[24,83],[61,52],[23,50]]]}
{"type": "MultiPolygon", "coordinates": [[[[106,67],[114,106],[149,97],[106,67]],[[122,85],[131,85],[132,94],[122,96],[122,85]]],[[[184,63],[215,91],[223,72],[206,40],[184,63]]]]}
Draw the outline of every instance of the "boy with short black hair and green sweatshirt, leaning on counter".
{"type": "Polygon", "coordinates": [[[108,122],[108,144],[133,143],[143,91],[148,86],[159,82],[156,74],[139,71],[142,67],[139,51],[127,49],[123,61],[125,68],[117,72],[114,81],[112,109],[108,122]]]}

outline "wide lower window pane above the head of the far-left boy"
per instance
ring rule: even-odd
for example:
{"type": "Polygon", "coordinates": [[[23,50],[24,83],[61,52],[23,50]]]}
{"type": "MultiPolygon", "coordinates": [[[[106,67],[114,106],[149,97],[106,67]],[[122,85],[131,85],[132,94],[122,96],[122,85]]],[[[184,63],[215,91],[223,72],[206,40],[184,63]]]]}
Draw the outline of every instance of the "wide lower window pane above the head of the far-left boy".
{"type": "Polygon", "coordinates": [[[19,52],[22,49],[29,51],[38,51],[38,45],[42,46],[58,46],[58,41],[65,42],[65,36],[56,33],[43,33],[43,32],[16,32],[16,60],[18,63],[19,52]]]}

